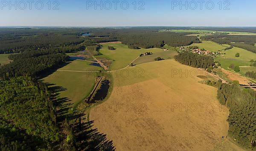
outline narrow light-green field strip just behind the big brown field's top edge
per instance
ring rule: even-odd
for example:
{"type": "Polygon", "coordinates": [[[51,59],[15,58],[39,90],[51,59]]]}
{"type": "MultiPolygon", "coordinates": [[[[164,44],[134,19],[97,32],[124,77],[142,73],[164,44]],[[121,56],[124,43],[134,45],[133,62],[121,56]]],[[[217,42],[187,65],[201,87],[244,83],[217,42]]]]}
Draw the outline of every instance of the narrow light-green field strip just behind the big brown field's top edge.
{"type": "Polygon", "coordinates": [[[154,59],[157,57],[161,57],[165,60],[173,59],[175,55],[177,55],[177,51],[160,51],[160,52],[156,52],[151,55],[139,57],[137,60],[134,61],[133,65],[139,65],[141,63],[152,62],[152,61],[155,61],[154,59]]]}

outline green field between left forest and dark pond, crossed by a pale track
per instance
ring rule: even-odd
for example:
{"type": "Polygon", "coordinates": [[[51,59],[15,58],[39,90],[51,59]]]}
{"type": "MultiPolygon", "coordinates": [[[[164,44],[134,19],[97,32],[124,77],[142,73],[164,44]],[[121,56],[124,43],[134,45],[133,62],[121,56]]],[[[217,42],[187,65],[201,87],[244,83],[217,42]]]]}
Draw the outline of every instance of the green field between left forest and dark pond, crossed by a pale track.
{"type": "MultiPolygon", "coordinates": [[[[99,71],[102,68],[90,66],[89,62],[74,60],[67,66],[59,70],[78,70],[78,71],[99,71]]],[[[84,72],[55,71],[53,74],[44,78],[44,82],[53,83],[63,88],[65,91],[60,92],[60,97],[68,97],[76,107],[82,100],[87,97],[93,89],[96,74],[84,72]]],[[[53,85],[53,86],[56,86],[53,85]]]]}

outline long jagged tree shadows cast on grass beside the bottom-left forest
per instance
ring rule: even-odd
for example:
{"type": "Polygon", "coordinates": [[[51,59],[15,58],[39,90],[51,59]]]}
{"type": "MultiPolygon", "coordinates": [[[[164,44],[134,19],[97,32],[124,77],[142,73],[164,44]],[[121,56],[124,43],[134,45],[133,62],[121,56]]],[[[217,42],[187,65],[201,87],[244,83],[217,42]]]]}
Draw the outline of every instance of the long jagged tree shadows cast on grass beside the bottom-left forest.
{"type": "Polygon", "coordinates": [[[50,99],[56,107],[57,125],[64,134],[62,138],[64,142],[66,141],[64,123],[68,121],[68,125],[72,128],[75,137],[74,147],[76,150],[115,151],[113,141],[107,140],[105,134],[93,129],[93,121],[82,123],[82,120],[87,121],[85,114],[78,110],[72,110],[73,103],[70,103],[71,100],[69,98],[59,97],[60,92],[67,90],[67,88],[56,86],[52,83],[46,84],[51,94],[50,99]]]}

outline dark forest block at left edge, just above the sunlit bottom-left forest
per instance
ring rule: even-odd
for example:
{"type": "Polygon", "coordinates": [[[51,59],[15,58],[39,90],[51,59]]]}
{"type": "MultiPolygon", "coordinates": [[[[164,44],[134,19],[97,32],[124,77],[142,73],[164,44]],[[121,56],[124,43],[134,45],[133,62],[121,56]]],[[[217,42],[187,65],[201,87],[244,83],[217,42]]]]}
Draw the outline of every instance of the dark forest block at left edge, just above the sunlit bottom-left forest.
{"type": "Polygon", "coordinates": [[[66,54],[58,51],[26,51],[21,54],[10,55],[14,61],[0,68],[0,78],[9,79],[15,76],[37,76],[50,68],[65,63],[66,54]]]}

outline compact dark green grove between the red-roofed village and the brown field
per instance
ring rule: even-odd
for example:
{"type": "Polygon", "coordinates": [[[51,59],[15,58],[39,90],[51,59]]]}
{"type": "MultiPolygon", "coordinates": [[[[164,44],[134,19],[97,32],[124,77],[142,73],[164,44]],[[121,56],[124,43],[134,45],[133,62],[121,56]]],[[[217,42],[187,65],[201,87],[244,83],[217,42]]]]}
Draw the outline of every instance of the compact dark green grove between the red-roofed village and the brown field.
{"type": "Polygon", "coordinates": [[[184,65],[192,66],[195,68],[207,69],[215,65],[213,57],[198,55],[191,52],[180,53],[175,56],[175,60],[184,65]]]}

